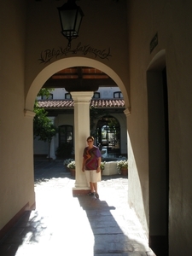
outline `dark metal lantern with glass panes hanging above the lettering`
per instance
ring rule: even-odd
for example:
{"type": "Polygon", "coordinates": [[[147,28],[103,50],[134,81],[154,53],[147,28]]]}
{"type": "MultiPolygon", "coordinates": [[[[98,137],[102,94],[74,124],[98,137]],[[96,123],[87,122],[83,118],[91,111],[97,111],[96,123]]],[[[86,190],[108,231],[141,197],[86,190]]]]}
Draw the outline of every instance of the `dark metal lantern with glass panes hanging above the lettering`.
{"type": "Polygon", "coordinates": [[[67,0],[61,7],[57,8],[61,21],[61,33],[68,39],[68,47],[71,47],[72,39],[79,37],[79,27],[84,17],[82,9],[75,3],[76,0],[67,0]]]}

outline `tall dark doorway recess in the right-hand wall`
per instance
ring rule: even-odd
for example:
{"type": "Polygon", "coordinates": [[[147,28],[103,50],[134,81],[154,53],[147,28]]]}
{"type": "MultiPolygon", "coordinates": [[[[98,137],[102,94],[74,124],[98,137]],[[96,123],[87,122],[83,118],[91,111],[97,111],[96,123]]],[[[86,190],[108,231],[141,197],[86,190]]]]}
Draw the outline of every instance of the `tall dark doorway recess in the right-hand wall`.
{"type": "Polygon", "coordinates": [[[154,253],[168,253],[169,134],[166,52],[148,67],[149,243],[154,253]]]}

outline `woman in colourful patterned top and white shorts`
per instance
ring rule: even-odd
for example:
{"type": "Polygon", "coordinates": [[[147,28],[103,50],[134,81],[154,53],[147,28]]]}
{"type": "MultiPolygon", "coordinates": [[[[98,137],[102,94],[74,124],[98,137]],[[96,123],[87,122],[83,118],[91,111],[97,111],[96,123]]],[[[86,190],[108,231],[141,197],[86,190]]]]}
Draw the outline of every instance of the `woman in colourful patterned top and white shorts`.
{"type": "Polygon", "coordinates": [[[102,154],[99,148],[93,144],[94,137],[88,137],[87,143],[88,147],[84,148],[82,171],[85,173],[87,183],[90,185],[90,193],[88,195],[94,195],[95,193],[96,199],[98,199],[97,182],[102,179],[100,169],[102,154]]]}

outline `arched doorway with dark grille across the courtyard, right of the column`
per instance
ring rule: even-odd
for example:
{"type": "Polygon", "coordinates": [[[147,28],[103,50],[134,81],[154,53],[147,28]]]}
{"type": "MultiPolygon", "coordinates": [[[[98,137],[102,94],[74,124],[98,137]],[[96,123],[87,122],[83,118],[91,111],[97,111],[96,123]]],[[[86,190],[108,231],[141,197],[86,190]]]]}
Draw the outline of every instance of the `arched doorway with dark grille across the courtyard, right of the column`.
{"type": "Polygon", "coordinates": [[[106,156],[119,156],[120,125],[113,116],[104,116],[97,122],[96,143],[105,151],[106,156]]]}

